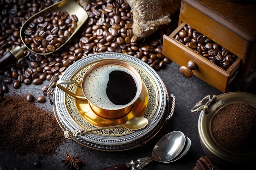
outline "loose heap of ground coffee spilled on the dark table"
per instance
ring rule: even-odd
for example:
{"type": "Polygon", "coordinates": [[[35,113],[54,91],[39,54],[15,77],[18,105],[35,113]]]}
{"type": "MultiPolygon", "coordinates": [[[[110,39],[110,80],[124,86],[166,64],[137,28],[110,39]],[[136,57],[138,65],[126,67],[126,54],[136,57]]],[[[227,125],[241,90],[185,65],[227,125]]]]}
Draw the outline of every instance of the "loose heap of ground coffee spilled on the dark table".
{"type": "Polygon", "coordinates": [[[5,97],[0,103],[0,120],[0,145],[20,155],[56,154],[66,141],[54,116],[23,96],[5,97]]]}

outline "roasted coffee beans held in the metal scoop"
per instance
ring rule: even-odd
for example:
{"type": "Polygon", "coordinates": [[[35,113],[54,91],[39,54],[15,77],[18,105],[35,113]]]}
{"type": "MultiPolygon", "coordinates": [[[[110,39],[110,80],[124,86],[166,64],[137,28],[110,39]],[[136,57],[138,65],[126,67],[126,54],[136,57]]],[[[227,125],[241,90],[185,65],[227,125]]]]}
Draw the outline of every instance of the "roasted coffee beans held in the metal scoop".
{"type": "Polygon", "coordinates": [[[78,18],[66,11],[38,16],[24,30],[24,42],[35,53],[50,53],[64,44],[77,26],[78,18]]]}

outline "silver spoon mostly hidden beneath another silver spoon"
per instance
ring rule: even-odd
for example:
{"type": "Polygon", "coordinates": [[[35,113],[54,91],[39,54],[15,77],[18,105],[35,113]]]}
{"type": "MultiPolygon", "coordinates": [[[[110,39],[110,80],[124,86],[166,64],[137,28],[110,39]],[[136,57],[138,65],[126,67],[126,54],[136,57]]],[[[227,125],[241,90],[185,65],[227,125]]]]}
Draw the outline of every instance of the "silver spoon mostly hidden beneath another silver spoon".
{"type": "MultiPolygon", "coordinates": [[[[162,163],[172,163],[172,162],[175,162],[175,161],[179,160],[180,158],[182,158],[186,154],[186,152],[189,151],[190,146],[191,146],[191,140],[188,137],[186,137],[186,144],[184,146],[184,149],[180,153],[180,155],[175,157],[174,159],[171,159],[170,161],[165,161],[165,162],[162,162],[162,163]]],[[[154,160],[153,159],[148,159],[148,160],[142,161],[141,163],[138,163],[136,166],[132,166],[131,170],[141,170],[148,163],[150,163],[152,161],[154,161],[154,160]]]]}

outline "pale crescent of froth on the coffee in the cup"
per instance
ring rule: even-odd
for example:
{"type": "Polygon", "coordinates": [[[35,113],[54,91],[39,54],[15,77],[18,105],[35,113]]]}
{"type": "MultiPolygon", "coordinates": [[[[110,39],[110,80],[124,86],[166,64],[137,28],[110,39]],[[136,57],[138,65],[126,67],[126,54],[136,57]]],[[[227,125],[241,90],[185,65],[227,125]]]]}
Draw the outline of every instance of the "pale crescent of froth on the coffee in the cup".
{"type": "MultiPolygon", "coordinates": [[[[130,75],[132,75],[136,86],[139,87],[139,82],[137,78],[135,78],[135,74],[132,73],[128,68],[117,65],[117,64],[107,64],[103,66],[99,66],[92,70],[87,77],[85,78],[83,87],[85,96],[88,100],[95,106],[107,110],[116,110],[129,106],[131,103],[135,101],[137,96],[139,95],[139,90],[137,90],[134,99],[126,105],[116,105],[113,104],[107,96],[106,88],[109,80],[109,74],[112,71],[124,71],[130,75]]],[[[120,94],[122,95],[122,94],[120,94]]]]}

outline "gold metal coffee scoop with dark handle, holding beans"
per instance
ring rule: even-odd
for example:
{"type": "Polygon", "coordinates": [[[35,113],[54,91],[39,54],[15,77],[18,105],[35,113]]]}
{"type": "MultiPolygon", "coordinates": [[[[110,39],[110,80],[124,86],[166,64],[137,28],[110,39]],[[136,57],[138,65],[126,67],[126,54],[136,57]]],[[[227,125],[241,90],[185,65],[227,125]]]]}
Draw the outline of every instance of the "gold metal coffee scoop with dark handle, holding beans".
{"type": "MultiPolygon", "coordinates": [[[[35,18],[38,16],[46,17],[48,13],[53,13],[55,11],[66,11],[70,16],[76,15],[78,18],[78,22],[76,22],[77,26],[74,29],[74,32],[70,35],[70,37],[63,43],[61,46],[59,46],[55,51],[58,51],[61,49],[66,42],[68,42],[73,35],[79,30],[79,28],[83,25],[83,23],[87,20],[88,14],[87,12],[81,7],[78,3],[76,3],[74,0],[62,0],[60,2],[57,2],[55,4],[52,4],[51,6],[39,11],[38,13],[32,15],[29,19],[26,20],[24,24],[22,24],[20,28],[20,38],[22,40],[22,43],[24,45],[22,46],[16,46],[14,49],[11,49],[8,51],[2,58],[0,58],[0,69],[4,68],[8,64],[11,64],[13,62],[16,62],[20,57],[24,55],[24,51],[28,49],[29,51],[36,53],[35,51],[31,50],[28,46],[26,46],[24,42],[25,33],[24,30],[28,27],[30,22],[33,22],[35,18]]],[[[48,55],[51,53],[54,53],[55,51],[51,51],[49,53],[36,53],[39,55],[48,55]]]]}

